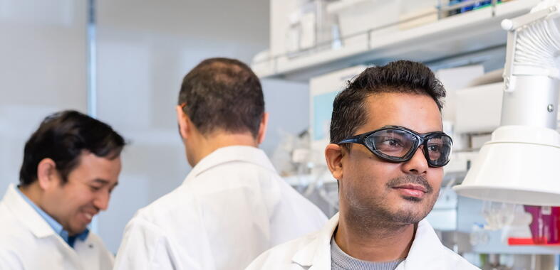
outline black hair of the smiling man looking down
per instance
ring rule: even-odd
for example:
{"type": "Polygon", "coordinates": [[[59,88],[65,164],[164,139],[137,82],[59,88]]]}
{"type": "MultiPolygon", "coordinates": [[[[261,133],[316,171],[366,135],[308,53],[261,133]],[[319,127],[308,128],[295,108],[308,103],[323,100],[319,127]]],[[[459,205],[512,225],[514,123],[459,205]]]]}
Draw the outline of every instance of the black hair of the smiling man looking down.
{"type": "Polygon", "coordinates": [[[83,151],[114,159],[120,156],[125,140],[108,124],[76,111],[56,112],[46,117],[25,144],[20,185],[37,180],[37,166],[44,158],[56,163],[63,183],[80,164],[83,151]]]}

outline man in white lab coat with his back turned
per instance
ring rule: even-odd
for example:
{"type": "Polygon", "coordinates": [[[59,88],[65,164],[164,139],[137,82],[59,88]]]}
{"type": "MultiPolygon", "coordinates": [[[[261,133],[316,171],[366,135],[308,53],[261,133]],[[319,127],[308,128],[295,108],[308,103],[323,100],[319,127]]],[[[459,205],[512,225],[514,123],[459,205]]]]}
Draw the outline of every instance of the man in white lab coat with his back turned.
{"type": "Polygon", "coordinates": [[[266,249],[324,225],[321,210],[257,148],[268,115],[247,65],[202,61],[185,76],[176,109],[192,171],[130,220],[115,269],[244,269],[266,249]]]}

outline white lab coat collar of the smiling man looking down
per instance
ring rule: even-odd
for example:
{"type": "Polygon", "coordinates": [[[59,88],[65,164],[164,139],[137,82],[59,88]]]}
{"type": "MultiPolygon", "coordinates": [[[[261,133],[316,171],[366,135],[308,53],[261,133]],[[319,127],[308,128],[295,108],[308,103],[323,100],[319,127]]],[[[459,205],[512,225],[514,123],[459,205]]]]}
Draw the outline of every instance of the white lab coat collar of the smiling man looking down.
{"type": "Polygon", "coordinates": [[[10,184],[4,199],[2,200],[6,206],[14,213],[14,216],[21,221],[36,237],[50,237],[56,232],[48,223],[39,215],[39,213],[29,205],[24,198],[17,192],[16,186],[10,184]]]}

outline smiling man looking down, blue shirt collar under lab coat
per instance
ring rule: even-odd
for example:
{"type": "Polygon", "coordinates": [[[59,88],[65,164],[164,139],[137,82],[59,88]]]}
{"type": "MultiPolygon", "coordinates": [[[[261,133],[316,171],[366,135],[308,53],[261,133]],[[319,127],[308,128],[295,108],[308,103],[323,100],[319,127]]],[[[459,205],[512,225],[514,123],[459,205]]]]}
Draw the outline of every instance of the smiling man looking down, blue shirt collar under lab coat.
{"type": "Polygon", "coordinates": [[[19,185],[0,202],[0,269],[113,267],[113,254],[87,226],[107,210],[124,145],[85,114],[46,117],[25,145],[19,185]]]}

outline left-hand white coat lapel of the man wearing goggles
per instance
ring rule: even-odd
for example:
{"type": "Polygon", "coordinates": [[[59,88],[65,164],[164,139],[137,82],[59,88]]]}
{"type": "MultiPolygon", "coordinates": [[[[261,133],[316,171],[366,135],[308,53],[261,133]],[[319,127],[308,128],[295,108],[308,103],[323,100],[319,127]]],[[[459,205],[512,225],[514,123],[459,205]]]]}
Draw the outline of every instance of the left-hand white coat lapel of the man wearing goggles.
{"type": "Polygon", "coordinates": [[[294,254],[291,261],[309,270],[331,269],[331,238],[337,226],[338,213],[328,220],[313,241],[294,254]]]}

